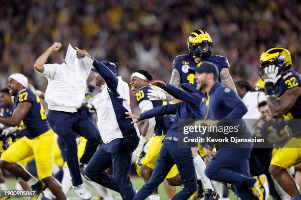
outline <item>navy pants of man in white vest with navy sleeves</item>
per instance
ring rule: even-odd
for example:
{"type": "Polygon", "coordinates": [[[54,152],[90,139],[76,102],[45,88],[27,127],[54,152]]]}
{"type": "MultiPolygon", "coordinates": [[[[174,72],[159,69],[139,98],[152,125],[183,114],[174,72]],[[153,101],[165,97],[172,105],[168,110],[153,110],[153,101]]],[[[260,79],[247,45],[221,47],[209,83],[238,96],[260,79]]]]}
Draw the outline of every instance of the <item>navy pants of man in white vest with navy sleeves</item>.
{"type": "Polygon", "coordinates": [[[119,192],[123,200],[132,200],[135,190],[129,178],[133,151],[139,137],[117,138],[102,144],[88,163],[85,175],[94,182],[119,192]],[[104,171],[113,164],[114,178],[104,171]]]}

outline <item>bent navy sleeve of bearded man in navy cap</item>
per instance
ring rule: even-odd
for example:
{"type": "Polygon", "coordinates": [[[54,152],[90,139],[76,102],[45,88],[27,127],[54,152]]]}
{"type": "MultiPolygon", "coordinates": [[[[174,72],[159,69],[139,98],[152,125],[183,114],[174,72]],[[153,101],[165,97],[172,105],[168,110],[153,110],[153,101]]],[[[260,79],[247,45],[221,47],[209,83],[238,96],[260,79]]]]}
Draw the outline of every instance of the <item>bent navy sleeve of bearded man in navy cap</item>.
{"type": "Polygon", "coordinates": [[[225,92],[223,89],[220,91],[220,95],[220,100],[231,109],[231,112],[223,119],[241,119],[248,111],[242,100],[233,90],[230,89],[230,92],[225,92]]]}

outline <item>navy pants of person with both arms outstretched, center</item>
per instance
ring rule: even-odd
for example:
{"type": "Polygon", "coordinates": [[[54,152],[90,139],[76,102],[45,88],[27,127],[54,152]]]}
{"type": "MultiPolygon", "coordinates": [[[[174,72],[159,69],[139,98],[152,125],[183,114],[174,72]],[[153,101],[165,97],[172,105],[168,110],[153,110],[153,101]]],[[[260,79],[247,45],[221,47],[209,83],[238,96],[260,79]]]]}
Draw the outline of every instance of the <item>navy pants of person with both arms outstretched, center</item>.
{"type": "Polygon", "coordinates": [[[196,190],[196,174],[190,148],[179,148],[178,142],[164,140],[151,178],[138,191],[133,200],[145,200],[163,182],[166,175],[176,164],[183,179],[184,188],[173,200],[187,200],[196,190]]]}

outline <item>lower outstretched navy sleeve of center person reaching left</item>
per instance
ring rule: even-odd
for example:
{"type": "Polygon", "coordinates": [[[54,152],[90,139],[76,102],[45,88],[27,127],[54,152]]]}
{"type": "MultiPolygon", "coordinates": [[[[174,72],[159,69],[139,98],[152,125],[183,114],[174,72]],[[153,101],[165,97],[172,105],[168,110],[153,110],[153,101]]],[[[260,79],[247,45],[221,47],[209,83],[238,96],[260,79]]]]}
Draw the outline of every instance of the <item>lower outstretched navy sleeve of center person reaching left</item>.
{"type": "Polygon", "coordinates": [[[142,113],[140,115],[140,119],[145,120],[145,119],[150,119],[150,118],[153,118],[155,116],[160,116],[160,115],[175,115],[180,103],[164,105],[164,106],[163,105],[157,106],[155,108],[152,108],[151,110],[148,110],[148,111],[142,113]]]}

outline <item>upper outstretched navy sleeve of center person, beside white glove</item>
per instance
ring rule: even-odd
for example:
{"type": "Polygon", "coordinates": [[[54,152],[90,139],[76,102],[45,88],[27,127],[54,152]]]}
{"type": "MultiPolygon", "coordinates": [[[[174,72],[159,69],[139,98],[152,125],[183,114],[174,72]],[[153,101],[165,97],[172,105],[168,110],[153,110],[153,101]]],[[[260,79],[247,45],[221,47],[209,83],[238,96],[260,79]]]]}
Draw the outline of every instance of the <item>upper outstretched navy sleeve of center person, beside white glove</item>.
{"type": "Polygon", "coordinates": [[[166,83],[166,87],[163,88],[166,92],[168,92],[171,96],[174,98],[177,98],[179,100],[186,101],[193,105],[198,105],[202,102],[200,98],[198,98],[196,95],[193,95],[192,93],[189,93],[185,90],[182,90],[176,86],[173,86],[169,83],[166,83]]]}

